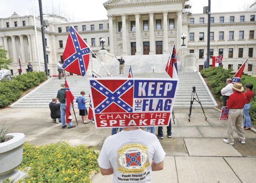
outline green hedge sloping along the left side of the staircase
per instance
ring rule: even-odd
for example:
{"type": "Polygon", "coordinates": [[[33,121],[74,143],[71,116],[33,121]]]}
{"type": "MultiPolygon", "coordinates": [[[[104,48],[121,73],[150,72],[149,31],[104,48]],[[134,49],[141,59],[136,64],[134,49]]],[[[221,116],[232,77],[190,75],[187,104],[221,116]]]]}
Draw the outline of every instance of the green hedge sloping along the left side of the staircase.
{"type": "Polygon", "coordinates": [[[28,72],[18,75],[13,80],[0,82],[0,107],[5,107],[20,98],[27,89],[39,85],[45,80],[45,72],[28,72]]]}

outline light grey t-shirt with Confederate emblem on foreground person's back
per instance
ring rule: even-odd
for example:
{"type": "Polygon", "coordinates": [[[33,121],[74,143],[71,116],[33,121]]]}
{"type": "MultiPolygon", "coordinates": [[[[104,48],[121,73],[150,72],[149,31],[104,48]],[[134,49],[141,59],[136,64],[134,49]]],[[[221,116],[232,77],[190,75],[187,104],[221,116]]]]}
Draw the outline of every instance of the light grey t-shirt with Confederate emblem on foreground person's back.
{"type": "Polygon", "coordinates": [[[164,160],[165,152],[156,135],[141,129],[109,136],[101,149],[101,168],[113,167],[113,183],[151,183],[151,163],[164,160]]]}

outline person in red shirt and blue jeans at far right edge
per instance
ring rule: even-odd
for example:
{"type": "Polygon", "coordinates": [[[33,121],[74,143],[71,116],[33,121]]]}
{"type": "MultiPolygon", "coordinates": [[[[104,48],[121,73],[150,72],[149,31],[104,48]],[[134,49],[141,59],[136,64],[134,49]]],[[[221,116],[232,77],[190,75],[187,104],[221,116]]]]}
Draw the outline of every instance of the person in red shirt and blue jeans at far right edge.
{"type": "Polygon", "coordinates": [[[245,106],[243,107],[243,127],[245,130],[251,129],[251,117],[249,114],[249,110],[251,108],[250,101],[253,98],[253,84],[247,84],[245,86],[246,91],[245,91],[245,106]]]}

